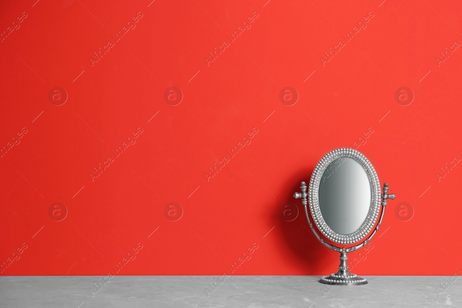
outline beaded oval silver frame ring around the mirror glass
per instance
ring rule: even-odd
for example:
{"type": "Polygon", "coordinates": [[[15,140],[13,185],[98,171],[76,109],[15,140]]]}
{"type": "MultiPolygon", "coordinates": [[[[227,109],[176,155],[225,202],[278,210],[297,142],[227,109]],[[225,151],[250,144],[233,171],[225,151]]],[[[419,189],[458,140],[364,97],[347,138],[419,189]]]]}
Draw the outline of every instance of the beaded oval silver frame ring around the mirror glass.
{"type": "Polygon", "coordinates": [[[380,200],[381,190],[377,173],[371,162],[359,151],[350,148],[340,148],[331,151],[321,158],[313,171],[313,175],[311,175],[310,187],[308,190],[308,201],[310,204],[311,217],[313,217],[316,227],[321,231],[321,233],[333,242],[339,244],[353,244],[364,239],[369,234],[369,232],[371,232],[372,228],[377,222],[377,217],[380,211],[380,200]],[[334,230],[332,230],[324,221],[321,210],[319,208],[318,194],[322,175],[330,163],[341,157],[349,157],[359,163],[365,170],[371,185],[371,206],[369,208],[367,217],[358,230],[348,235],[334,232],[334,230]]]}

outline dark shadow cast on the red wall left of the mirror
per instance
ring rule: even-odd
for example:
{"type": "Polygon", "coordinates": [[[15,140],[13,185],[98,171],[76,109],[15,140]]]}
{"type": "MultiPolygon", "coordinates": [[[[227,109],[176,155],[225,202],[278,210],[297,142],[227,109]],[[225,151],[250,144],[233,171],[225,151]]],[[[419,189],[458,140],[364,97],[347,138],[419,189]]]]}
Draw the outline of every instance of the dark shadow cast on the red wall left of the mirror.
{"type": "MultiPolygon", "coordinates": [[[[275,206],[273,219],[274,224],[279,227],[285,238],[288,250],[302,261],[305,274],[323,275],[326,271],[332,271],[332,266],[337,266],[339,255],[318,241],[310,229],[301,199],[293,197],[295,192],[301,193],[300,183],[302,181],[307,186],[310,184],[313,170],[314,165],[286,178],[281,189],[285,195],[278,198],[282,200],[282,203],[275,206]]],[[[309,205],[307,206],[310,211],[309,205]]]]}

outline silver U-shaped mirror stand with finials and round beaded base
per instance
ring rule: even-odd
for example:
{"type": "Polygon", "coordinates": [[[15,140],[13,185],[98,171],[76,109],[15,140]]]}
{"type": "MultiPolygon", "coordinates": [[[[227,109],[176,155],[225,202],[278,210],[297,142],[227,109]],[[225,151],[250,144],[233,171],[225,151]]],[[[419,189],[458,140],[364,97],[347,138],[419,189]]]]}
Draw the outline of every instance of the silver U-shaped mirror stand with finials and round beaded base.
{"type": "Polygon", "coordinates": [[[310,216],[308,215],[308,209],[307,209],[307,206],[306,206],[308,204],[308,200],[307,200],[308,193],[306,193],[306,188],[307,188],[306,183],[302,182],[300,188],[302,190],[302,193],[294,193],[293,196],[296,199],[302,198],[302,204],[304,205],[306,218],[308,219],[308,222],[310,223],[311,231],[313,231],[316,238],[324,246],[326,246],[326,247],[340,253],[339,271],[336,272],[336,273],[331,274],[330,276],[322,277],[319,280],[319,282],[322,283],[322,284],[335,284],[335,285],[361,285],[361,284],[367,284],[367,280],[365,278],[359,277],[356,274],[352,274],[352,273],[350,273],[348,271],[348,264],[346,263],[346,261],[348,260],[348,256],[346,254],[349,253],[349,252],[355,251],[355,250],[357,250],[359,248],[362,248],[365,244],[367,244],[371,240],[372,236],[374,236],[377,233],[377,230],[380,227],[380,223],[382,223],[383,213],[384,213],[385,207],[387,205],[387,199],[395,199],[395,194],[394,193],[391,193],[391,194],[388,193],[388,189],[389,189],[388,188],[388,183],[384,183],[383,187],[382,187],[383,194],[380,195],[380,197],[382,198],[382,203],[381,203],[382,204],[382,211],[380,212],[380,219],[378,220],[376,228],[374,229],[372,234],[367,239],[365,239],[360,244],[358,244],[356,246],[353,246],[353,247],[350,247],[350,248],[340,248],[340,247],[331,245],[331,244],[327,243],[326,241],[324,241],[322,239],[322,237],[317,234],[317,232],[315,231],[315,229],[313,227],[313,224],[311,223],[310,216]]]}

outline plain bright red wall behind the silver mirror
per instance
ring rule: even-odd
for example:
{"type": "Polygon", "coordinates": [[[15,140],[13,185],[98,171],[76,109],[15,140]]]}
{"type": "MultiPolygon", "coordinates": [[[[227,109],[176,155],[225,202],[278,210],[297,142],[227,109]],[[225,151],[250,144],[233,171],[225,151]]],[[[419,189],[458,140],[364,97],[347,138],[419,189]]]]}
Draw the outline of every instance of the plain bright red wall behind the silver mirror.
{"type": "Polygon", "coordinates": [[[353,272],[461,271],[461,3],[266,1],[1,4],[1,275],[330,274],[292,194],[340,147],[397,195],[353,272]]]}

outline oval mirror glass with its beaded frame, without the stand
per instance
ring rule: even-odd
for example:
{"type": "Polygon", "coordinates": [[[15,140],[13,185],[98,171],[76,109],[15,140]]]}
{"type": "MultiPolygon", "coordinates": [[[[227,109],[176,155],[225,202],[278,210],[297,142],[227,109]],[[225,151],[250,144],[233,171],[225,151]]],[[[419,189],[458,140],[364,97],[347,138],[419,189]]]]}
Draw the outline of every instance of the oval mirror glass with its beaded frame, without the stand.
{"type": "Polygon", "coordinates": [[[329,240],[351,244],[374,226],[380,209],[380,186],[371,162],[352,149],[322,157],[309,189],[311,215],[329,240]]]}

